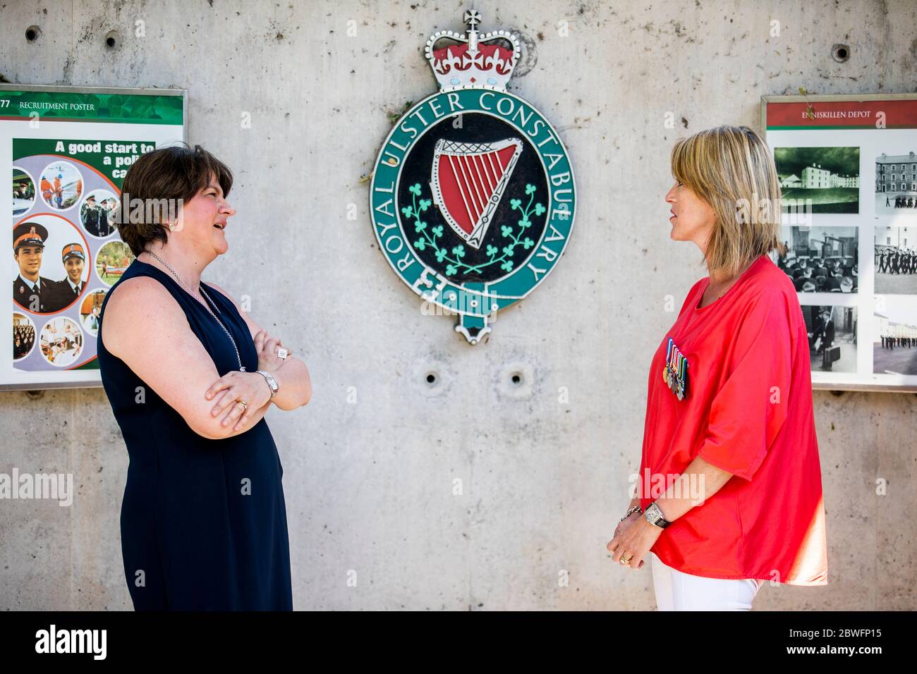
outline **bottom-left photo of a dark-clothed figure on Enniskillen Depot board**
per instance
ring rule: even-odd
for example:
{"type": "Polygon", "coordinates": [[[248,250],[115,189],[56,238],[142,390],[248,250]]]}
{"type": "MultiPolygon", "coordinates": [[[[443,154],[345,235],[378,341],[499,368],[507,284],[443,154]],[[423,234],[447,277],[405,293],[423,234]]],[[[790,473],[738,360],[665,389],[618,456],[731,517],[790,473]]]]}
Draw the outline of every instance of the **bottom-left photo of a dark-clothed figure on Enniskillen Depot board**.
{"type": "Polygon", "coordinates": [[[812,372],[856,372],[856,306],[802,304],[812,372]]]}

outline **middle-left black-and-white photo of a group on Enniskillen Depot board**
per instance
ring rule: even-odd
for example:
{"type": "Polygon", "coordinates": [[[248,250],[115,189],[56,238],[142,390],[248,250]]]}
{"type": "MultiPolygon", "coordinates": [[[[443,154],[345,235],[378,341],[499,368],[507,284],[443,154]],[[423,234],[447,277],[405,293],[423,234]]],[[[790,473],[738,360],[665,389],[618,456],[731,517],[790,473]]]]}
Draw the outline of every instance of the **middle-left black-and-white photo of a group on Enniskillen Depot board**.
{"type": "Polygon", "coordinates": [[[777,266],[797,293],[856,293],[859,287],[858,227],[784,226],[787,254],[777,266]]]}

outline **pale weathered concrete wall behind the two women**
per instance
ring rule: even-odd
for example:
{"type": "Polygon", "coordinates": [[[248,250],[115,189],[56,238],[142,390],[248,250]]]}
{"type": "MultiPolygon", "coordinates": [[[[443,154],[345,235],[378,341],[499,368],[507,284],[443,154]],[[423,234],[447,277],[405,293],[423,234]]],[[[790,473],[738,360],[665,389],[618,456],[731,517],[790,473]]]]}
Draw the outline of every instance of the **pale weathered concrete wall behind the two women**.
{"type": "MultiPolygon", "coordinates": [[[[250,295],[256,319],[305,354],[315,386],[307,407],[268,415],[299,609],[654,608],[648,565],[615,568],[604,545],[639,465],[646,369],[674,320],[664,297],[680,306],[703,275],[699,251],[668,238],[673,140],[758,127],[762,94],[917,83],[910,0],[475,6],[483,29],[525,39],[510,88],[558,128],[580,202],[558,269],[475,348],[453,319],[421,315],[375,247],[360,182],[386,113],[435,90],[425,39],[461,28],[468,3],[0,6],[7,80],[187,88],[191,141],[236,171],[230,250],[204,279],[250,295]],[[28,43],[32,24],[41,36],[28,43]],[[110,30],[116,50],[105,48],[110,30]],[[845,64],[831,58],[835,42],[852,48],[845,64]],[[520,386],[508,381],[516,371],[520,386]],[[561,386],[569,403],[558,403],[561,386]]],[[[917,398],[814,397],[830,583],[766,586],[756,608],[912,610],[917,398]]],[[[0,503],[0,608],[129,609],[118,534],[127,452],[104,392],[5,392],[0,409],[0,471],[72,472],[77,485],[70,508],[0,503]]]]}

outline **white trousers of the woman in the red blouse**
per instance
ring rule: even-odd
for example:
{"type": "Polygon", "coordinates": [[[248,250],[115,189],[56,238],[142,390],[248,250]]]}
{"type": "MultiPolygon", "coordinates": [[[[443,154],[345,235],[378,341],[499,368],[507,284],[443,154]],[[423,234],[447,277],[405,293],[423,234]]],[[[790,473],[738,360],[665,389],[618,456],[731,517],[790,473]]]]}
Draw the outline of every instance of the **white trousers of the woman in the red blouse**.
{"type": "Polygon", "coordinates": [[[692,576],[663,564],[655,553],[649,556],[659,611],[751,611],[751,602],[764,583],[751,578],[692,576]]]}

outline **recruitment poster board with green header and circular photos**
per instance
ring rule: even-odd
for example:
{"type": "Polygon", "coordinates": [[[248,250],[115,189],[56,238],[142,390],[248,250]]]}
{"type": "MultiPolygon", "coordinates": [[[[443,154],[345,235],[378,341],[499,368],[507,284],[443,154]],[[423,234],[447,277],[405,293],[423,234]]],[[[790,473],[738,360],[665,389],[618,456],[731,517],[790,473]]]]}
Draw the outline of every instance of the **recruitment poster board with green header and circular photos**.
{"type": "Polygon", "coordinates": [[[0,84],[12,174],[0,209],[13,219],[0,389],[101,385],[99,309],[133,260],[117,231],[121,182],[141,154],[184,140],[186,119],[184,90],[0,84]]]}

